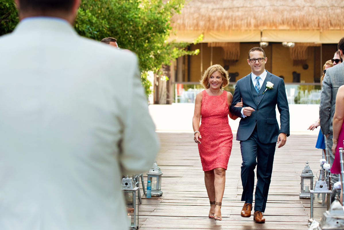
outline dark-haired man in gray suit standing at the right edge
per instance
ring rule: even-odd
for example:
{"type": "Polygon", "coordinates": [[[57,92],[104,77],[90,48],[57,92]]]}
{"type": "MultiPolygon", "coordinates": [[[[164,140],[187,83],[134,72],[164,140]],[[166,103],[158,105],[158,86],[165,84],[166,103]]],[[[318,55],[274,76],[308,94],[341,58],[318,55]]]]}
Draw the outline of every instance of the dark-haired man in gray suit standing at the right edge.
{"type": "MultiPolygon", "coordinates": [[[[338,42],[338,51],[340,57],[344,58],[344,37],[338,42]]],[[[333,115],[336,107],[336,96],[340,86],[344,85],[344,64],[337,64],[326,70],[324,80],[322,82],[321,96],[320,96],[320,126],[321,132],[327,137],[327,148],[330,153],[330,165],[332,166],[334,160],[334,153],[331,151],[333,145],[333,115]]],[[[338,181],[337,174],[331,174],[331,184],[338,181]]],[[[334,193],[332,198],[334,198],[334,193]]]]}

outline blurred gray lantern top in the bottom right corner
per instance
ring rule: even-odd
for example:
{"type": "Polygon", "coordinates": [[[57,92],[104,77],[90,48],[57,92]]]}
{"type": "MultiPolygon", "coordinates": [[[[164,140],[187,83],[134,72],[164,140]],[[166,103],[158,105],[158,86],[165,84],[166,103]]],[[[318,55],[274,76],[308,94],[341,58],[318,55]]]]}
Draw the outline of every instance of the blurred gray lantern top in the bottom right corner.
{"type": "Polygon", "coordinates": [[[336,196],[329,211],[324,212],[318,230],[344,229],[344,209],[336,196]]]}

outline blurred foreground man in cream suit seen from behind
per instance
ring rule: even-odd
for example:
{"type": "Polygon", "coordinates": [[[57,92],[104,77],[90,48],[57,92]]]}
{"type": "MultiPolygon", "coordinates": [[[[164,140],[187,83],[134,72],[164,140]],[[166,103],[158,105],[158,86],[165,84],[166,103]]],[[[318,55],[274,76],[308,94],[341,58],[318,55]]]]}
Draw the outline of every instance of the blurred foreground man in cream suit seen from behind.
{"type": "Polygon", "coordinates": [[[137,58],[78,36],[79,0],[17,1],[0,37],[0,229],[128,229],[121,175],[158,151],[137,58]]]}

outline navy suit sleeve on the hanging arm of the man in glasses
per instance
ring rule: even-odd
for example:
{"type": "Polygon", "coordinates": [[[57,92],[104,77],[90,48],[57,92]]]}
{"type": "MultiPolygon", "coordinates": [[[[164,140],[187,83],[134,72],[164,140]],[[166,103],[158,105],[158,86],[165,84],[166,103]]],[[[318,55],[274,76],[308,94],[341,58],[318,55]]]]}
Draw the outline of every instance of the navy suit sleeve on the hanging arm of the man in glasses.
{"type": "Polygon", "coordinates": [[[290,115],[289,115],[289,105],[286,94],[286,87],[284,86],[284,81],[281,79],[278,86],[277,92],[277,108],[280,113],[281,129],[280,133],[286,133],[287,136],[290,135],[290,115]]]}

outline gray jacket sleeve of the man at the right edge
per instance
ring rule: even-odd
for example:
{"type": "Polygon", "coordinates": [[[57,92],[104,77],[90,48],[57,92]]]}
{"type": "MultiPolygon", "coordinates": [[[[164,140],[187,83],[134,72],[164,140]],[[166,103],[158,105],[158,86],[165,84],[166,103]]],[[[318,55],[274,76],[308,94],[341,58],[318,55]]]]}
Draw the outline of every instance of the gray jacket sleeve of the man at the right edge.
{"type": "Polygon", "coordinates": [[[324,135],[330,133],[330,121],[331,121],[331,103],[332,103],[332,84],[328,72],[324,76],[322,82],[321,95],[320,95],[320,108],[319,118],[321,132],[324,135]]]}

